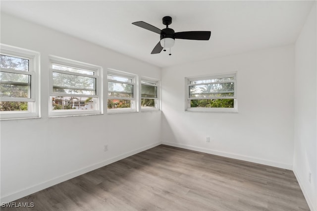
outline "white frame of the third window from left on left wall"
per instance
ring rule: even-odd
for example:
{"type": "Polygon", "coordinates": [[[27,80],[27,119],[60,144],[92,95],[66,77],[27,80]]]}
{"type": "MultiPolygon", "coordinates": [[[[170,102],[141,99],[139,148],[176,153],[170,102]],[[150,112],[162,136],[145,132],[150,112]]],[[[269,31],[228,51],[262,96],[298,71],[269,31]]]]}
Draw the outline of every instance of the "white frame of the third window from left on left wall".
{"type": "Polygon", "coordinates": [[[108,68],[107,71],[107,77],[106,77],[106,93],[107,93],[107,97],[106,97],[106,107],[107,107],[107,113],[128,113],[128,112],[138,112],[138,106],[137,103],[138,102],[138,76],[136,74],[132,74],[132,73],[128,73],[128,72],[123,72],[123,71],[119,71],[119,70],[115,70],[115,69],[111,69],[108,68]],[[123,78],[128,78],[131,79],[131,83],[130,82],[122,82],[122,81],[117,81],[117,80],[111,80],[108,79],[108,75],[112,75],[112,76],[118,76],[118,77],[123,77],[123,78]],[[109,82],[113,82],[113,83],[122,83],[122,84],[129,84],[133,86],[133,92],[132,92],[132,98],[128,98],[128,97],[109,97],[108,96],[108,83],[109,82]],[[108,100],[130,100],[130,105],[132,104],[132,106],[130,108],[118,108],[118,109],[109,109],[108,108],[108,100]]]}

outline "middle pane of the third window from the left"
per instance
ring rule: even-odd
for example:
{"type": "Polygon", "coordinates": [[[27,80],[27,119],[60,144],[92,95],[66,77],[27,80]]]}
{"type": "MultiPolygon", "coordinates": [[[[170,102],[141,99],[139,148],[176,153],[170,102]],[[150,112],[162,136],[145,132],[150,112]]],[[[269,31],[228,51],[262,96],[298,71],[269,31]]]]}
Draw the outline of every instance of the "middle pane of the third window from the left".
{"type": "Polygon", "coordinates": [[[108,96],[133,98],[133,85],[108,82],[108,96]]]}

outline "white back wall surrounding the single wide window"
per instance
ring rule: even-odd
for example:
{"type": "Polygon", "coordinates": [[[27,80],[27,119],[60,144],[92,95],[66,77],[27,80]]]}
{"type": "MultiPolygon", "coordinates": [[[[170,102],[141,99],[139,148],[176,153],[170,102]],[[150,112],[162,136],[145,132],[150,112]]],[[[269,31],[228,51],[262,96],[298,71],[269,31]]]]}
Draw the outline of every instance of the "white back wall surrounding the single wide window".
{"type": "Polygon", "coordinates": [[[291,45],[163,68],[163,144],[292,169],[294,65],[291,45]],[[233,71],[238,113],[184,111],[185,77],[233,71]]]}

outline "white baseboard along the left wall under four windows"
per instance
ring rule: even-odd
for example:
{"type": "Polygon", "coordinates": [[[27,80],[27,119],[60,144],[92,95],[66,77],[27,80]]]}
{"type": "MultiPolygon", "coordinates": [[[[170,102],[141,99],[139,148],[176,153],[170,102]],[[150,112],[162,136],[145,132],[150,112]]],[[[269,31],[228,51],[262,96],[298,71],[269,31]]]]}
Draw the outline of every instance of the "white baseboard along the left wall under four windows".
{"type": "Polygon", "coordinates": [[[97,168],[100,168],[100,167],[103,167],[105,165],[108,165],[110,163],[116,162],[116,161],[118,161],[120,159],[127,158],[129,156],[133,156],[133,155],[135,155],[137,153],[141,153],[141,152],[143,152],[145,150],[149,150],[149,149],[151,149],[153,147],[159,146],[160,144],[161,144],[161,142],[158,142],[158,143],[155,143],[155,144],[151,144],[151,145],[148,145],[148,146],[145,146],[145,147],[130,151],[128,153],[124,153],[122,155],[116,156],[114,158],[109,158],[109,159],[106,159],[106,160],[104,160],[102,162],[99,162],[99,163],[96,163],[96,164],[93,164],[93,165],[78,169],[76,171],[64,174],[62,176],[53,178],[53,179],[48,180],[46,182],[42,182],[42,183],[40,183],[38,185],[35,185],[35,186],[32,186],[32,187],[28,187],[28,188],[26,188],[24,190],[20,190],[20,191],[17,191],[15,193],[8,194],[6,196],[1,197],[0,202],[1,203],[12,202],[14,200],[20,199],[22,197],[28,196],[28,195],[33,194],[35,192],[41,191],[43,189],[46,189],[46,188],[51,187],[53,185],[56,185],[58,183],[61,183],[61,182],[64,182],[66,180],[69,180],[71,178],[74,178],[76,176],[82,175],[82,174],[87,173],[89,171],[92,171],[92,170],[95,170],[97,168]]]}

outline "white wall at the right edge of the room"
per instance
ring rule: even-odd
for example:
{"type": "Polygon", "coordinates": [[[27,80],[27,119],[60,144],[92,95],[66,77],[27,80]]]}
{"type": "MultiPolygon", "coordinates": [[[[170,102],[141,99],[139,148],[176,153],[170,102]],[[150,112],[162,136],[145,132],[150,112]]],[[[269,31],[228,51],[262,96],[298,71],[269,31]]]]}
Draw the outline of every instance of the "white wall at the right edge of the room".
{"type": "Polygon", "coordinates": [[[293,170],[311,210],[317,210],[316,3],[295,44],[293,170]],[[308,175],[312,172],[312,182],[308,175]]]}

